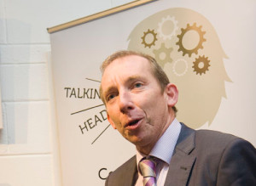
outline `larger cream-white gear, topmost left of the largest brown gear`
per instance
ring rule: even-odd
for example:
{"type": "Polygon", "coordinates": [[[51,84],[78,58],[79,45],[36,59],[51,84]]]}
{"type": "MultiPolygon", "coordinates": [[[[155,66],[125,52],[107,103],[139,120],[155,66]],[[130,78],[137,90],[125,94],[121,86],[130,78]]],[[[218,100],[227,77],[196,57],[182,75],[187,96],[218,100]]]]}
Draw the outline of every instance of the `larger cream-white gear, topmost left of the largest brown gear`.
{"type": "Polygon", "coordinates": [[[175,36],[175,33],[177,31],[177,20],[175,20],[174,16],[168,15],[165,18],[162,18],[161,22],[158,24],[158,30],[157,32],[160,34],[160,37],[162,37],[164,40],[166,39],[172,39],[173,36],[175,36]],[[163,33],[163,25],[166,23],[166,21],[171,20],[173,23],[173,29],[172,32],[168,35],[163,33]]]}

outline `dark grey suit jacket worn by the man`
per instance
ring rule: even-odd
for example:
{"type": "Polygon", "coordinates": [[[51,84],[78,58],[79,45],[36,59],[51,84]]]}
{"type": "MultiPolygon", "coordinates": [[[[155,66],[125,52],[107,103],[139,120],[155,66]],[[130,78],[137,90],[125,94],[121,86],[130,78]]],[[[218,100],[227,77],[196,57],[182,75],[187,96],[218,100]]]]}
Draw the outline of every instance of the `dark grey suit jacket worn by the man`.
{"type": "MultiPolygon", "coordinates": [[[[108,186],[137,181],[136,156],[106,180],[108,186]]],[[[195,131],[182,124],[165,186],[256,185],[256,149],[246,140],[222,132],[195,131]]]]}

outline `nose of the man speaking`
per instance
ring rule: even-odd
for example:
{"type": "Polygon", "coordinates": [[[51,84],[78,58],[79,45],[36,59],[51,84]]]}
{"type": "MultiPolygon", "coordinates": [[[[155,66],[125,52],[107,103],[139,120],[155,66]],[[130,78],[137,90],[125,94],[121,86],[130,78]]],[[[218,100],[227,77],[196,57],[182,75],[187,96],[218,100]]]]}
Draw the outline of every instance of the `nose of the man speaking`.
{"type": "Polygon", "coordinates": [[[131,93],[128,93],[127,91],[119,93],[119,108],[123,114],[126,114],[129,110],[134,108],[131,93]]]}

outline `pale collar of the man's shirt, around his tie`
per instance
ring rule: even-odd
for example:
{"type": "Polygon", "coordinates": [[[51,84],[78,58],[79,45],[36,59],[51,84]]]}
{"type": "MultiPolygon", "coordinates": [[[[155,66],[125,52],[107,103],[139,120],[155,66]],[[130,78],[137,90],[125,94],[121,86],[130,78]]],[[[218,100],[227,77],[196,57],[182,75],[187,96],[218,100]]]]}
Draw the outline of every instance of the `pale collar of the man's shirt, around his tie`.
{"type": "MultiPolygon", "coordinates": [[[[164,132],[160,139],[156,142],[149,155],[157,157],[169,165],[180,131],[181,124],[175,118],[171,125],[166,129],[166,132],[164,132]]],[[[145,155],[137,150],[137,164],[144,156],[145,155]]]]}

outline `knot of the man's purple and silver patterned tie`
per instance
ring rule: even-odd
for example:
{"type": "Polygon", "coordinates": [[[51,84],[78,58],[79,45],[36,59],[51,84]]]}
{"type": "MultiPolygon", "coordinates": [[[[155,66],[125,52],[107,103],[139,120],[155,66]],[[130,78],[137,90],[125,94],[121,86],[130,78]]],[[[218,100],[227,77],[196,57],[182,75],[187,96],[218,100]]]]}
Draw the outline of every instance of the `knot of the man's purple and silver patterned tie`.
{"type": "Polygon", "coordinates": [[[143,178],[154,177],[156,178],[156,162],[153,157],[143,158],[139,162],[139,170],[143,175],[143,178]]]}

